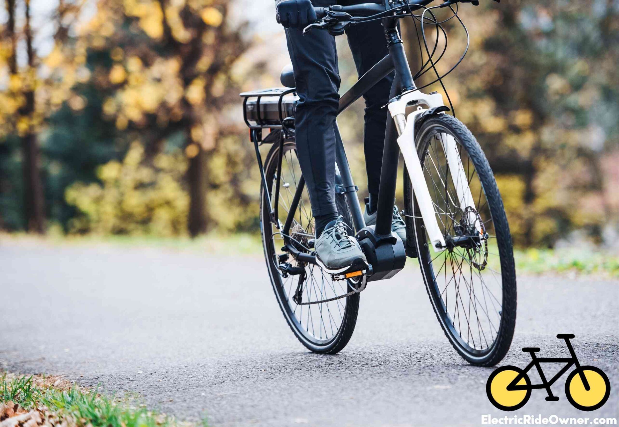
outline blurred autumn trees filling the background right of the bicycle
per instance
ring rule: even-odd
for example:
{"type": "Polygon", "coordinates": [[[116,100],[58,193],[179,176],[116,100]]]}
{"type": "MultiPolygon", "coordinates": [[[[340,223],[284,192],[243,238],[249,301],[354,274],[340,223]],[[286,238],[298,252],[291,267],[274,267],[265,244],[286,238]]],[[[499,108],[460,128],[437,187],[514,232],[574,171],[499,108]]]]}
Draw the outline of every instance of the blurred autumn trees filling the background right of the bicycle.
{"type": "MultiPolygon", "coordinates": [[[[519,244],[552,246],[574,229],[599,242],[617,221],[604,194],[615,178],[602,169],[617,156],[617,12],[616,0],[460,8],[470,51],[445,81],[497,175],[519,244]]],[[[456,20],[448,33],[443,73],[465,46],[456,20]]]]}

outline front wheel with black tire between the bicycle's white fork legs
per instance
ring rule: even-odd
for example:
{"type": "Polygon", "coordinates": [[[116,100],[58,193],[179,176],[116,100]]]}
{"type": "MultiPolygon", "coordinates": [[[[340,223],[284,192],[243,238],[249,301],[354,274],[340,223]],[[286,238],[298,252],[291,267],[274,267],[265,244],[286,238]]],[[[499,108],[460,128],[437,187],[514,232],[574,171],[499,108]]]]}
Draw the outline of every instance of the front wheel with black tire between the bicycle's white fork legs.
{"type": "Polygon", "coordinates": [[[437,252],[431,252],[417,201],[413,196],[409,174],[405,172],[405,220],[407,231],[409,233],[413,231],[413,235],[407,236],[407,239],[409,242],[415,242],[428,296],[430,296],[436,317],[452,346],[471,364],[494,366],[508,352],[516,325],[516,270],[513,247],[509,224],[495,177],[477,140],[456,118],[446,114],[425,118],[418,123],[415,135],[418,156],[435,203],[435,212],[443,236],[475,237],[475,227],[477,229],[483,227],[488,238],[478,239],[472,249],[455,247],[451,251],[438,252],[438,255],[437,252]],[[473,201],[476,205],[473,211],[464,212],[461,208],[462,204],[453,201],[454,197],[457,200],[457,196],[454,196],[457,192],[456,185],[451,179],[451,171],[447,167],[444,151],[442,157],[439,151],[439,148],[444,150],[444,141],[441,138],[446,135],[454,137],[472,193],[475,189],[473,201]],[[441,167],[441,161],[443,161],[444,168],[441,167]],[[475,174],[477,174],[477,180],[475,180],[475,174]],[[443,182],[443,187],[448,187],[447,190],[441,188],[441,182],[443,182]],[[479,187],[478,195],[476,185],[479,187]],[[439,191],[436,188],[439,188],[439,191]],[[485,202],[482,203],[483,200],[485,202]],[[491,252],[495,250],[495,247],[498,253],[491,252]],[[443,258],[440,257],[444,258],[444,275],[441,270],[443,266],[439,268],[440,264],[435,264],[437,259],[438,263],[443,262],[443,258]],[[464,270],[468,268],[470,271],[464,274],[463,267],[464,270]],[[452,282],[448,274],[450,268],[453,273],[452,282]],[[497,268],[500,268],[500,271],[496,271],[497,268]],[[456,273],[455,270],[458,272],[456,273]],[[486,277],[493,279],[493,288],[497,289],[496,292],[488,288],[485,283],[486,277]],[[481,288],[483,299],[482,296],[478,297],[475,294],[476,281],[480,283],[477,290],[481,288]],[[464,284],[464,297],[460,291],[461,284],[464,284]],[[450,285],[454,289],[449,288],[450,285]],[[495,295],[498,291],[501,292],[501,296],[495,295]],[[465,299],[466,293],[469,293],[468,307],[462,301],[462,306],[459,306],[459,298],[465,299]],[[453,304],[454,299],[455,304],[453,304]],[[477,303],[479,303],[480,310],[478,310],[477,303]],[[490,308],[488,304],[491,304],[490,308]],[[473,313],[471,313],[471,307],[474,307],[473,313]],[[452,309],[451,312],[450,309],[452,309]],[[472,314],[475,314],[477,325],[474,323],[471,326],[472,314]],[[482,319],[483,324],[480,314],[482,318],[483,314],[487,317],[487,320],[482,319]],[[463,317],[467,324],[465,334],[462,329],[463,317]],[[487,327],[486,330],[485,327],[487,327]],[[475,342],[476,339],[477,342],[475,342]]]}

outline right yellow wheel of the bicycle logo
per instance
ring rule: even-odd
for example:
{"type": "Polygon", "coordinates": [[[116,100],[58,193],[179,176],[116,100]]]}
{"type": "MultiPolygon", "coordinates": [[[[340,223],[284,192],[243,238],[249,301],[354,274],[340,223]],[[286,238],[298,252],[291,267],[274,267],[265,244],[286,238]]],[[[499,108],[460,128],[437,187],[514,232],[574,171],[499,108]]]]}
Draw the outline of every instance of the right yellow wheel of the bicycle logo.
{"type": "Polygon", "coordinates": [[[581,411],[594,411],[601,408],[610,395],[610,381],[600,368],[595,366],[581,366],[574,369],[565,381],[565,395],[574,408],[581,411]],[[589,384],[586,389],[581,375],[584,375],[589,384]]]}

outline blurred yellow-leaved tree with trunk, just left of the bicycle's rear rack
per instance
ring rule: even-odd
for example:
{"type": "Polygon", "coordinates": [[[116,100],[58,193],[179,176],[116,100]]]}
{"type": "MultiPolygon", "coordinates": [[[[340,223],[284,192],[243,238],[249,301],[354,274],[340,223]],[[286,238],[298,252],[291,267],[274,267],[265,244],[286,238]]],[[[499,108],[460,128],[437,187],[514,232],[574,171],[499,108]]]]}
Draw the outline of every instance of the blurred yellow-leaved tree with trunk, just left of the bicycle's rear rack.
{"type": "Polygon", "coordinates": [[[238,131],[223,113],[231,97],[238,102],[233,67],[250,43],[229,11],[226,0],[102,0],[85,30],[91,50],[110,55],[108,66],[94,71],[106,117],[118,130],[138,130],[150,156],[167,139],[184,141],[191,236],[209,226],[217,141],[238,131]]]}

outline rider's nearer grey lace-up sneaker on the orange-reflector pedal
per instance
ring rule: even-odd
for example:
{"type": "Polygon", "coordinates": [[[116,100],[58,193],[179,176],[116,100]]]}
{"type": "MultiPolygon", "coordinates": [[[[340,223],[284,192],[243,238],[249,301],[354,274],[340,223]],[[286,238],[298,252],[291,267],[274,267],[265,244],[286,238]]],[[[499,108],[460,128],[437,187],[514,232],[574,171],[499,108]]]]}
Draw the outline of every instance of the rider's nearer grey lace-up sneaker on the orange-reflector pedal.
{"type": "Polygon", "coordinates": [[[332,275],[343,273],[348,269],[363,270],[367,266],[359,242],[355,237],[348,236],[342,216],[324,227],[324,231],[316,240],[314,250],[316,250],[316,263],[332,275]]]}

